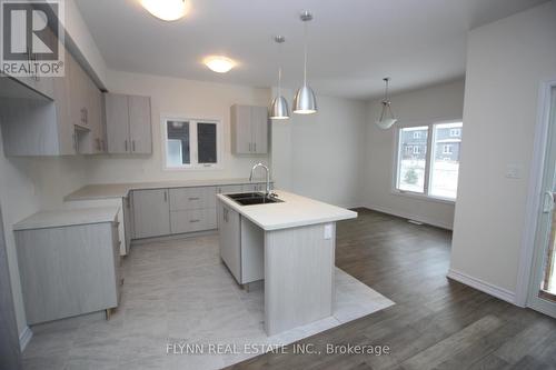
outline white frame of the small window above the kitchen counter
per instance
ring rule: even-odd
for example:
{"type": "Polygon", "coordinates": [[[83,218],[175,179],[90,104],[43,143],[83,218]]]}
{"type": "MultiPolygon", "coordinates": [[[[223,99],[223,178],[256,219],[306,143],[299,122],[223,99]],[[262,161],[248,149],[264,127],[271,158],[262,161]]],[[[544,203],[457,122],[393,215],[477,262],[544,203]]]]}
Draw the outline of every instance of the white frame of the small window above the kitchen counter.
{"type": "Polygon", "coordinates": [[[161,140],[162,140],[162,169],[165,171],[206,171],[222,169],[222,120],[214,118],[191,118],[182,114],[163,114],[161,122],[161,140]],[[178,167],[168,166],[168,121],[189,122],[189,161],[190,163],[178,167]],[[216,124],[216,163],[199,163],[197,123],[215,123],[216,124]]]}

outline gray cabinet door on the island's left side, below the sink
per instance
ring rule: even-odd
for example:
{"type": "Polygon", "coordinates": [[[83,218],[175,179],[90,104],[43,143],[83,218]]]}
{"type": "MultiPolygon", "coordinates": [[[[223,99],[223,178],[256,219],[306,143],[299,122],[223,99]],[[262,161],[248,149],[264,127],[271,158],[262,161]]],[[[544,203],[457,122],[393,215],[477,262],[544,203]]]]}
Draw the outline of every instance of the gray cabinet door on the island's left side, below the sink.
{"type": "Polygon", "coordinates": [[[231,274],[241,283],[241,240],[240,216],[222,202],[218,206],[218,231],[220,237],[220,258],[231,274]]]}

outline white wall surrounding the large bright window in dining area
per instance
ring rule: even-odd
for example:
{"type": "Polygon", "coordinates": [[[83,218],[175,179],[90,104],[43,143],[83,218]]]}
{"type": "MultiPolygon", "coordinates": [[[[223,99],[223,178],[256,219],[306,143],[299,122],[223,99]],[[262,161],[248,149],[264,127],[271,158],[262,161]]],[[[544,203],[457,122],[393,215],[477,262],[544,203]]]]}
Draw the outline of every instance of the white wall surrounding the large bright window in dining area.
{"type": "MultiPolygon", "coordinates": [[[[454,204],[393,193],[396,128],[461,119],[464,81],[454,81],[391,97],[398,122],[389,130],[375,124],[380,100],[367,107],[366,177],[363,201],[366,207],[391,214],[451,229],[454,204]]],[[[466,126],[464,123],[464,131],[466,126]]]]}

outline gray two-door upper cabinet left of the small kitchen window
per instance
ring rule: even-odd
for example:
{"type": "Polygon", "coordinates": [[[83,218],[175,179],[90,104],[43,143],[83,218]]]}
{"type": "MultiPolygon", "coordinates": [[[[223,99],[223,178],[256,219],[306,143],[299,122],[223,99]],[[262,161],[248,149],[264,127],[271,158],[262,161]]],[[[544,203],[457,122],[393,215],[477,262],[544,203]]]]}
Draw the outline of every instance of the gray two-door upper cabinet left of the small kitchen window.
{"type": "Polygon", "coordinates": [[[108,152],[150,154],[152,152],[150,98],[105,93],[108,152]]]}

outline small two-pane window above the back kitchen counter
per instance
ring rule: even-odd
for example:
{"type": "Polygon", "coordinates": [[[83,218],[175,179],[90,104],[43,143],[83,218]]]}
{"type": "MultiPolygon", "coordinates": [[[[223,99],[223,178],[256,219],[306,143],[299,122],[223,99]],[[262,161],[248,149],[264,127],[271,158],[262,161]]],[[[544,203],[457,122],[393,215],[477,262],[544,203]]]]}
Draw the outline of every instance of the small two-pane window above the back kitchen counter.
{"type": "Polygon", "coordinates": [[[166,168],[210,168],[219,162],[219,121],[163,119],[166,168]]]}

